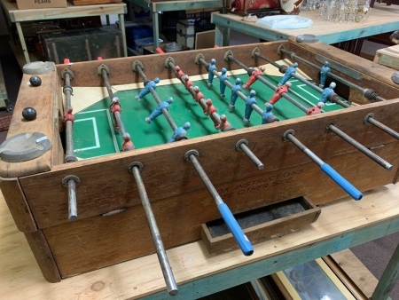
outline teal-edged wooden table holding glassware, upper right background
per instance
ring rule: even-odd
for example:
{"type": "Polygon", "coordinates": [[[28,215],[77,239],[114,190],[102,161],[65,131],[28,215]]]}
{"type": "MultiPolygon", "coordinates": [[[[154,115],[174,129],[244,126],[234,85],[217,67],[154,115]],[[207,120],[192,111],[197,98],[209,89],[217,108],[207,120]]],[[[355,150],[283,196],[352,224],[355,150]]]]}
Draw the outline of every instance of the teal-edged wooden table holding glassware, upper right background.
{"type": "Polygon", "coordinates": [[[259,37],[266,41],[285,40],[289,36],[312,34],[318,36],[323,43],[340,43],[367,36],[395,31],[399,28],[399,5],[374,4],[370,17],[363,23],[339,24],[321,20],[317,11],[300,12],[301,17],[313,20],[309,28],[270,29],[255,25],[253,22],[241,20],[236,14],[212,13],[212,23],[215,24],[215,44],[229,45],[231,29],[240,33],[259,37]]]}

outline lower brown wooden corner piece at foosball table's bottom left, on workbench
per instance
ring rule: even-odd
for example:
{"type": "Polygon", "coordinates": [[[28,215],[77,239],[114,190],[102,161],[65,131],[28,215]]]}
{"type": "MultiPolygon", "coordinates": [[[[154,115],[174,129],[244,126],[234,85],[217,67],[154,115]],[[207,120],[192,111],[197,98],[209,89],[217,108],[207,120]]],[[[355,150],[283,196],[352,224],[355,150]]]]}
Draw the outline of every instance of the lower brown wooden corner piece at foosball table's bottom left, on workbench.
{"type": "Polygon", "coordinates": [[[61,276],[43,232],[38,230],[34,233],[25,233],[25,237],[40,266],[43,277],[49,282],[59,282],[61,276]]]}

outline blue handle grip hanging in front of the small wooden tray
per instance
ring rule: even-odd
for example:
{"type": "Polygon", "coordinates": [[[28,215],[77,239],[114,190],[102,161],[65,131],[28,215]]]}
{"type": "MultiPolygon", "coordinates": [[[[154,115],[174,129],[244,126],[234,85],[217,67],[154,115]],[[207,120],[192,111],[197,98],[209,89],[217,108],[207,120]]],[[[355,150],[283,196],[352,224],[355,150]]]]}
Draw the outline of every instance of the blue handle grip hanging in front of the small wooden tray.
{"type": "Polygon", "coordinates": [[[228,208],[226,203],[217,205],[217,208],[219,209],[224,222],[229,226],[229,229],[234,236],[234,239],[236,239],[239,244],[242,253],[244,253],[246,257],[252,255],[254,253],[254,247],[252,247],[251,242],[248,241],[246,234],[242,231],[239,223],[237,223],[236,218],[232,215],[231,210],[228,208]]]}

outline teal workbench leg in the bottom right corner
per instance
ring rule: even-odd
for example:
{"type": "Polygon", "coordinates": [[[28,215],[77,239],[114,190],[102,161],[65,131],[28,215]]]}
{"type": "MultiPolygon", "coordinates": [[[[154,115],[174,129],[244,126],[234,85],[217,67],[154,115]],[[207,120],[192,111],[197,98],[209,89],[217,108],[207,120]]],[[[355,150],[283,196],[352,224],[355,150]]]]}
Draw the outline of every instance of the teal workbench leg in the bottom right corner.
{"type": "Polygon", "coordinates": [[[396,246],[395,252],[392,255],[385,271],[379,279],[379,284],[372,293],[372,300],[387,299],[392,288],[395,287],[397,280],[399,280],[399,245],[396,246]]]}

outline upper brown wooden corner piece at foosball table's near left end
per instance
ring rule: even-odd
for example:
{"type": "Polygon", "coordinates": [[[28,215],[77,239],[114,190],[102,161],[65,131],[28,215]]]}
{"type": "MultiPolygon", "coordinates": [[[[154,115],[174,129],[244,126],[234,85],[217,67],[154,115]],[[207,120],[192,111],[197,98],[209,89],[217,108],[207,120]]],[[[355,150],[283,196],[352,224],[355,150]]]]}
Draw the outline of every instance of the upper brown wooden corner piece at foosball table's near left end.
{"type": "Polygon", "coordinates": [[[34,217],[29,209],[25,195],[20,188],[17,178],[0,179],[0,189],[12,213],[12,218],[21,232],[34,232],[37,230],[34,217]]]}

